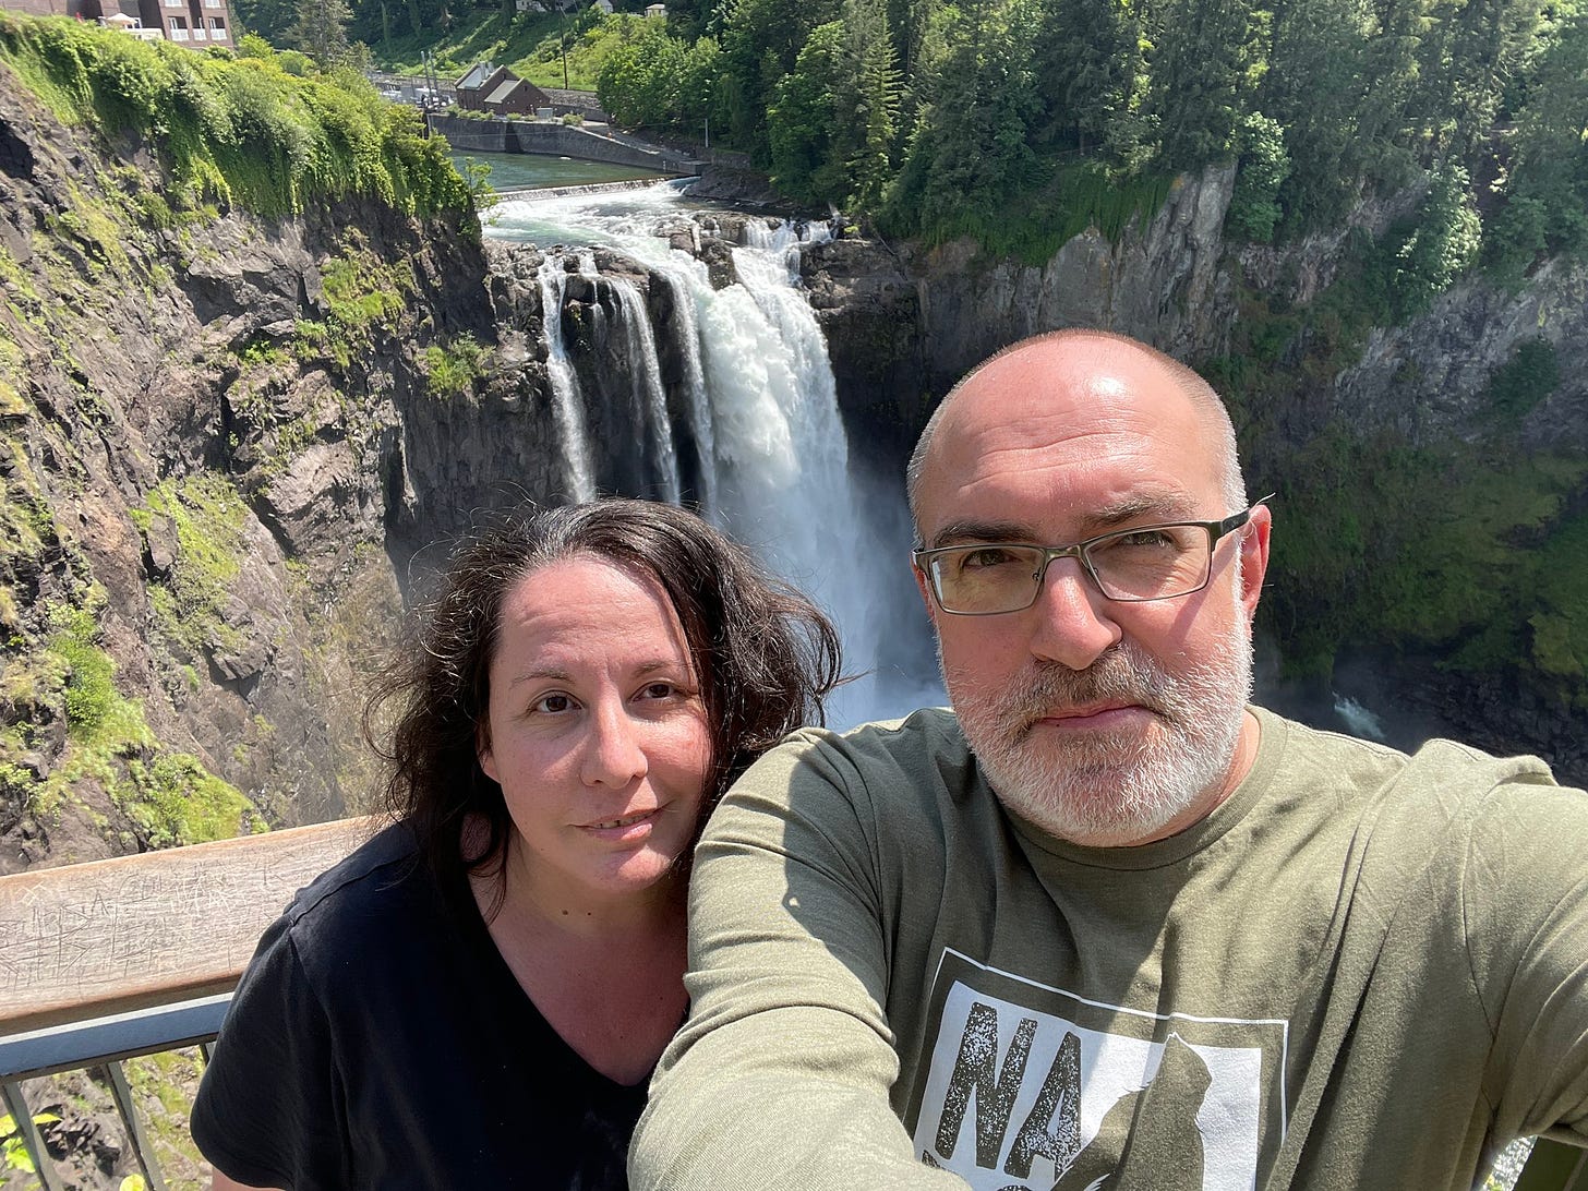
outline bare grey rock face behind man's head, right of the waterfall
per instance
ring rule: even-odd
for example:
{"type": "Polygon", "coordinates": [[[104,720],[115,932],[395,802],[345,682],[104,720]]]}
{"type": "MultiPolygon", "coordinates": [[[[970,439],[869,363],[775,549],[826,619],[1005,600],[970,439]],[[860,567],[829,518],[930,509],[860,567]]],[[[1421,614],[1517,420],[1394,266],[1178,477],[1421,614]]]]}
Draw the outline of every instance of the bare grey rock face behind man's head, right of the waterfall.
{"type": "MultiPolygon", "coordinates": [[[[1305,305],[1334,279],[1348,233],[1382,233],[1416,194],[1377,202],[1351,227],[1283,248],[1229,245],[1232,168],[1183,178],[1145,227],[1118,243],[1091,229],[1040,267],[988,260],[975,245],[932,251],[837,240],[805,256],[851,426],[892,451],[912,443],[937,399],[999,348],[1058,327],[1108,327],[1185,360],[1229,349],[1239,287],[1305,305]]],[[[1410,441],[1482,434],[1491,373],[1520,343],[1548,341],[1563,383],[1528,416],[1534,443],[1588,435],[1588,268],[1542,265],[1518,292],[1469,279],[1405,326],[1374,330],[1337,376],[1299,378],[1305,394],[1278,424],[1305,437],[1332,414],[1410,441]]],[[[1261,445],[1258,453],[1262,453],[1261,445]]]]}

